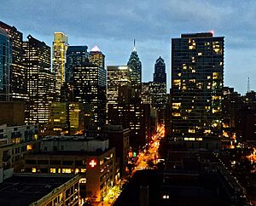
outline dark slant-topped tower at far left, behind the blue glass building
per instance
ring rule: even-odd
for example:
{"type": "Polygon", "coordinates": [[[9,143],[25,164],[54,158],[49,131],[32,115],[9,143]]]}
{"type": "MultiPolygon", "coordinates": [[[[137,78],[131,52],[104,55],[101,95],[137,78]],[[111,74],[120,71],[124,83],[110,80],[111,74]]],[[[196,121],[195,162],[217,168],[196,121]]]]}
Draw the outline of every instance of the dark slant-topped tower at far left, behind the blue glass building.
{"type": "Polygon", "coordinates": [[[0,28],[7,31],[10,45],[11,60],[9,61],[9,100],[27,100],[26,68],[23,64],[23,35],[15,26],[0,21],[0,28]]]}

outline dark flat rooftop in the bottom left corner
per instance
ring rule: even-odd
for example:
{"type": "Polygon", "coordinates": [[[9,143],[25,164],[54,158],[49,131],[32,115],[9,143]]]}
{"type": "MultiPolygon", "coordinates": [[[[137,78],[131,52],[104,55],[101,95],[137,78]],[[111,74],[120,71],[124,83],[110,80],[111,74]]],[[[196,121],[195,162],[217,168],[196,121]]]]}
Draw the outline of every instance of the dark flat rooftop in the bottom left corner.
{"type": "Polygon", "coordinates": [[[0,184],[0,205],[27,206],[72,178],[73,175],[14,175],[0,184]]]}

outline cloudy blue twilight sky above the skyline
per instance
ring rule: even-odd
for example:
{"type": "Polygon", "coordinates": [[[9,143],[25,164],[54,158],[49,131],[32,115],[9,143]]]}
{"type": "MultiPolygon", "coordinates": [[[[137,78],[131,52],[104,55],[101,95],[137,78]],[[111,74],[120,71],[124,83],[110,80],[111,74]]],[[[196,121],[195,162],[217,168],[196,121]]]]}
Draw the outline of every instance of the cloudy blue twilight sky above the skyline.
{"type": "Polygon", "coordinates": [[[224,85],[245,94],[247,77],[256,89],[255,0],[4,0],[0,20],[52,46],[55,31],[70,45],[95,44],[106,65],[125,65],[133,39],[143,63],[143,82],[152,81],[154,62],[166,61],[170,87],[171,38],[215,32],[225,37],[224,85]]]}

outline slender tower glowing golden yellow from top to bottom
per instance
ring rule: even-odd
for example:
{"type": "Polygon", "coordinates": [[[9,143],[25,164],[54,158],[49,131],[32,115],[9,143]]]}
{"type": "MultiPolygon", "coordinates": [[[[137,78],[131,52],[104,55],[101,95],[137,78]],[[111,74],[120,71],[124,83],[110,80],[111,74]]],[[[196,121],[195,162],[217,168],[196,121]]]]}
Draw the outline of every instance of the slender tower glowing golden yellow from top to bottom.
{"type": "Polygon", "coordinates": [[[61,85],[65,82],[67,46],[67,36],[62,32],[55,32],[52,48],[52,68],[55,73],[55,93],[58,96],[61,95],[61,85]]]}

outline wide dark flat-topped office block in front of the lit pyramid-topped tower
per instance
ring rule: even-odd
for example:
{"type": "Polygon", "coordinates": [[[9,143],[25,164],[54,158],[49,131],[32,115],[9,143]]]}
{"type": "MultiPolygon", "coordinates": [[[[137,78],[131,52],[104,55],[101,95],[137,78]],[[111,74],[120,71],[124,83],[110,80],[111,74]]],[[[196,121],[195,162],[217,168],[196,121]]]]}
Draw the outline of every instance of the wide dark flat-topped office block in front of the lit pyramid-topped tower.
{"type": "Polygon", "coordinates": [[[101,126],[106,121],[106,70],[91,63],[73,67],[73,92],[75,101],[91,104],[94,123],[101,126]]]}

